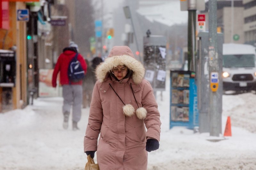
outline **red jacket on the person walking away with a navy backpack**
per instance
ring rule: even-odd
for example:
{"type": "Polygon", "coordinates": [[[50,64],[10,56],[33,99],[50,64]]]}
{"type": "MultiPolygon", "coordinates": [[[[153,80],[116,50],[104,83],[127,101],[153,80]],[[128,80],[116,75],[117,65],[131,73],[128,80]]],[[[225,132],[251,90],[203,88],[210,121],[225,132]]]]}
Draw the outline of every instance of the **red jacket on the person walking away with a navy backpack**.
{"type": "MultiPolygon", "coordinates": [[[[60,71],[60,84],[61,85],[69,85],[69,79],[68,79],[68,65],[72,58],[76,55],[75,50],[72,50],[71,48],[65,48],[63,53],[60,54],[58,61],[54,67],[54,71],[52,74],[52,86],[56,87],[57,83],[57,75],[60,71]],[[66,50],[65,50],[66,49],[66,50]]],[[[84,69],[84,73],[86,73],[87,70],[87,64],[84,61],[84,58],[82,55],[78,54],[77,60],[81,63],[82,68],[84,69]]],[[[82,80],[79,82],[71,82],[71,85],[82,85],[82,80]]]]}

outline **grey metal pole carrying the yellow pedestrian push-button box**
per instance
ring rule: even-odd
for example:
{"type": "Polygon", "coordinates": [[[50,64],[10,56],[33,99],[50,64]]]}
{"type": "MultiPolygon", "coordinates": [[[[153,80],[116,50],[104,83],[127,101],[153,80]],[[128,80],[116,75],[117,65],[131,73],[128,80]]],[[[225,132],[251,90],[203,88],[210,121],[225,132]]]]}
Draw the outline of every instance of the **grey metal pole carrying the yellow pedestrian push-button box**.
{"type": "MultiPolygon", "coordinates": [[[[218,72],[218,53],[217,53],[217,0],[209,1],[209,76],[211,79],[212,72],[218,72]]],[[[219,75],[221,76],[221,75],[219,75]]],[[[209,115],[210,115],[210,136],[219,137],[220,135],[220,123],[219,116],[219,102],[218,92],[210,90],[210,103],[209,103],[209,115]]]]}

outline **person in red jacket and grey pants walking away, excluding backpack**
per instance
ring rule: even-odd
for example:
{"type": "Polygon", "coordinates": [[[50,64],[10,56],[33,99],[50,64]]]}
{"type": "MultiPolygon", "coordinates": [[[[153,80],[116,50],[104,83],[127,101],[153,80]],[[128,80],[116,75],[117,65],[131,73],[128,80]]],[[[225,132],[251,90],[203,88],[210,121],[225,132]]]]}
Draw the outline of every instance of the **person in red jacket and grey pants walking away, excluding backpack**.
{"type": "MultiPolygon", "coordinates": [[[[52,74],[52,86],[56,87],[57,75],[60,72],[60,84],[62,85],[63,107],[62,112],[64,115],[63,128],[68,129],[68,117],[72,106],[72,129],[78,130],[77,122],[81,119],[81,106],[82,106],[82,80],[78,82],[71,82],[68,79],[68,66],[73,57],[78,53],[78,46],[71,43],[69,47],[63,49],[58,61],[54,67],[52,74]]],[[[81,54],[78,54],[77,60],[86,73],[87,64],[81,54]]]]}

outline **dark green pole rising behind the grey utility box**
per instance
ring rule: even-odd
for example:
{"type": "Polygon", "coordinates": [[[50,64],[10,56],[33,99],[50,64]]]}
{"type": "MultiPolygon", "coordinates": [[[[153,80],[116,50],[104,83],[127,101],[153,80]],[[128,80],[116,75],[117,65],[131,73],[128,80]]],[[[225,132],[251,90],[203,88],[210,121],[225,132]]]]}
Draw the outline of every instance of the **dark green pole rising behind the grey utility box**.
{"type": "Polygon", "coordinates": [[[188,70],[195,71],[196,0],[188,0],[188,70]]]}

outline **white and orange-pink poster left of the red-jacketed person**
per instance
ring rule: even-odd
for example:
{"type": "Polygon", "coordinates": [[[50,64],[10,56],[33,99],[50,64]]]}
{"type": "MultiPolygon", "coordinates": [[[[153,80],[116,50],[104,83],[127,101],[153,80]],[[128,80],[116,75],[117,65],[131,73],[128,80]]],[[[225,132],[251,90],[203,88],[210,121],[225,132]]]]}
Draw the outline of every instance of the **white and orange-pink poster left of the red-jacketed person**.
{"type": "Polygon", "coordinates": [[[59,82],[57,78],[57,87],[52,87],[53,69],[39,69],[39,97],[57,97],[59,96],[59,82]]]}

